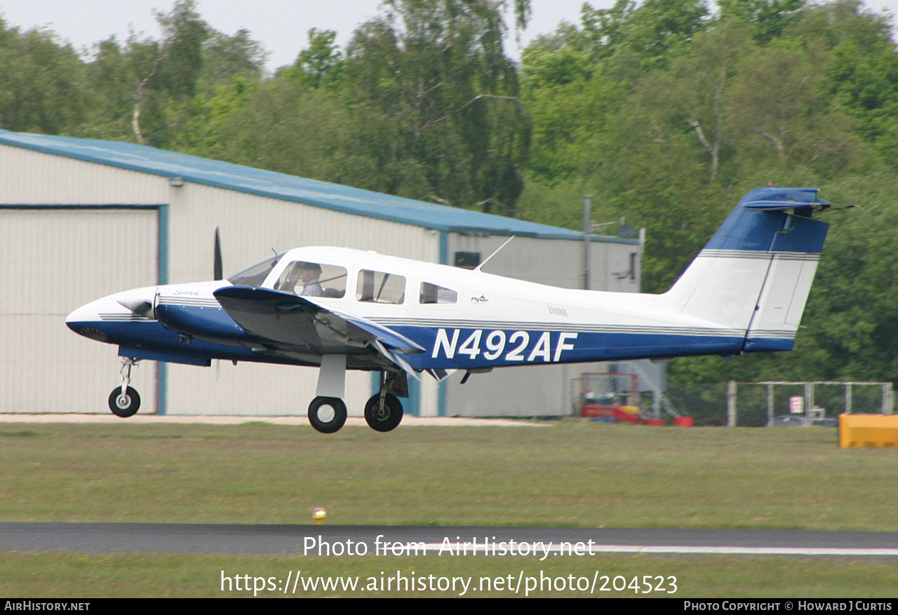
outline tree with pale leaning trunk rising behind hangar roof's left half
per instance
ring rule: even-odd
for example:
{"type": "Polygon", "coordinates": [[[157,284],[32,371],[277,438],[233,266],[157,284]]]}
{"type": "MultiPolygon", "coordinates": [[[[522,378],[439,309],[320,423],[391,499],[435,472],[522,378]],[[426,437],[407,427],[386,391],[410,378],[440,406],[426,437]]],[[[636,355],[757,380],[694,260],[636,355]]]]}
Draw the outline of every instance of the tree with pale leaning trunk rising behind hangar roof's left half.
{"type": "Polygon", "coordinates": [[[210,29],[192,0],[155,14],[160,40],[132,33],[124,44],[98,44],[87,66],[91,119],[79,135],[196,149],[216,134],[202,121],[220,123],[233,110],[233,100],[223,104],[228,92],[240,100],[261,78],[266,53],[249,32],[210,29]]]}

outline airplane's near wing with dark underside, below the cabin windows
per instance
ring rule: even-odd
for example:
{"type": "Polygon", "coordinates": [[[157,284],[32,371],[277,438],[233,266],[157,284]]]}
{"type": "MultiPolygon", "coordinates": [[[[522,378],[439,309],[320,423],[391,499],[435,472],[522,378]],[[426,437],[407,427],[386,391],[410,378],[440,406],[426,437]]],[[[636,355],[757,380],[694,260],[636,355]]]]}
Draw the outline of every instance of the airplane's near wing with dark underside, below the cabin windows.
{"type": "Polygon", "coordinates": [[[425,351],[392,329],[334,310],[315,297],[255,286],[225,286],[214,294],[242,329],[273,349],[319,355],[374,351],[409,373],[414,370],[401,355],[425,351]]]}

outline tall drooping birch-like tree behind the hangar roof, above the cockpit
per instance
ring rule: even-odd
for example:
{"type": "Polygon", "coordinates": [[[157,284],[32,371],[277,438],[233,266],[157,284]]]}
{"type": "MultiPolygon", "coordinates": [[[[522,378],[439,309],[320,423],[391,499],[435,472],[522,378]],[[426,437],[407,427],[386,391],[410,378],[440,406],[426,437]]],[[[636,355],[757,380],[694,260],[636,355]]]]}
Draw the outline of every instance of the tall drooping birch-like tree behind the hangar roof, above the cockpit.
{"type": "MultiPolygon", "coordinates": [[[[356,31],[345,78],[352,104],[387,130],[379,168],[418,166],[426,189],[391,192],[511,214],[529,127],[497,0],[395,0],[356,31]]],[[[519,18],[527,3],[517,3],[519,18]]],[[[419,186],[418,180],[415,181],[419,186]]]]}

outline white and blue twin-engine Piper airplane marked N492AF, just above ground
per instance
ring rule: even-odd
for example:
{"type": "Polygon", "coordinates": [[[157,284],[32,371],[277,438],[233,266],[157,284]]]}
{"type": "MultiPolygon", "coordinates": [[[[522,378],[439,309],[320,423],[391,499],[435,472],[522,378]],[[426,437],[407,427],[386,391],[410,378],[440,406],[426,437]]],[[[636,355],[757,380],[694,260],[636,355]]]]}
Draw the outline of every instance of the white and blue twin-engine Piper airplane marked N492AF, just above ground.
{"type": "MultiPolygon", "coordinates": [[[[374,252],[297,248],[226,281],[138,288],[88,303],[66,324],[119,345],[119,417],[140,405],[137,360],[211,359],[320,366],[309,421],[346,421],[347,370],[379,371],[365,420],[390,431],[408,377],[442,380],[510,365],[789,350],[804,312],[830,206],[816,189],[748,193],[665,294],[542,286],[374,252]]],[[[462,380],[462,382],[464,382],[462,380]]]]}

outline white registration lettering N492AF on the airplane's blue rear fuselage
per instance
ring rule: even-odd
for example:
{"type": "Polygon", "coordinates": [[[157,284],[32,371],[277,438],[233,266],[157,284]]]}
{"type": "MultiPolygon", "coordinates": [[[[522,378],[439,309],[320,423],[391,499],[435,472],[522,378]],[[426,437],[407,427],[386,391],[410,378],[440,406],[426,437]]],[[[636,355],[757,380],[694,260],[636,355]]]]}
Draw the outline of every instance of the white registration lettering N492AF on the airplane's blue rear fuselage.
{"type": "Polygon", "coordinates": [[[441,354],[447,359],[452,359],[456,355],[464,355],[474,360],[482,352],[483,358],[488,361],[558,363],[561,360],[562,352],[574,349],[574,344],[568,342],[577,339],[577,333],[559,332],[557,337],[553,338],[550,331],[534,331],[533,338],[536,341],[533,344],[531,344],[532,336],[529,331],[506,333],[502,329],[492,331],[474,329],[464,338],[460,346],[459,339],[461,337],[462,329],[452,329],[451,334],[446,329],[437,329],[431,358],[436,359],[441,354]]]}

